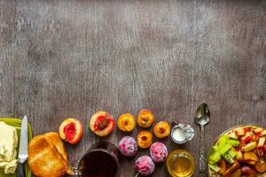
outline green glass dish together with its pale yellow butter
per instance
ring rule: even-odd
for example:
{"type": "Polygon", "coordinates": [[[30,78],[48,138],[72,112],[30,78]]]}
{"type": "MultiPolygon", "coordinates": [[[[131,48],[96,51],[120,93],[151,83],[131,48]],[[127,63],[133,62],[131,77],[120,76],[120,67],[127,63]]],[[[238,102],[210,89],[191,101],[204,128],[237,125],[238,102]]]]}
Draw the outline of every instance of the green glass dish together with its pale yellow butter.
{"type": "MultiPolygon", "coordinates": [[[[16,173],[12,173],[12,171],[16,169],[20,148],[21,119],[0,118],[0,127],[2,127],[0,128],[0,176],[15,177],[16,173]]],[[[30,141],[32,139],[32,128],[29,124],[27,124],[27,133],[28,141],[30,141]]],[[[25,163],[25,172],[26,177],[31,177],[27,163],[25,163]]]]}

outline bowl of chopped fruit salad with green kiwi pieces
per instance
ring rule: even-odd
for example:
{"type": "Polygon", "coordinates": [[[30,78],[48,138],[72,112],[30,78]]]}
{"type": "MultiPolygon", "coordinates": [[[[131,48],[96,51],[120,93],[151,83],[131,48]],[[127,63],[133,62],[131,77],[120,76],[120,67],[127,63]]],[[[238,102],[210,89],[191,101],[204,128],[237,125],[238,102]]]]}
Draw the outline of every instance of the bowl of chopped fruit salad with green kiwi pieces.
{"type": "Polygon", "coordinates": [[[209,177],[266,177],[266,129],[232,127],[220,135],[208,153],[209,177]]]}

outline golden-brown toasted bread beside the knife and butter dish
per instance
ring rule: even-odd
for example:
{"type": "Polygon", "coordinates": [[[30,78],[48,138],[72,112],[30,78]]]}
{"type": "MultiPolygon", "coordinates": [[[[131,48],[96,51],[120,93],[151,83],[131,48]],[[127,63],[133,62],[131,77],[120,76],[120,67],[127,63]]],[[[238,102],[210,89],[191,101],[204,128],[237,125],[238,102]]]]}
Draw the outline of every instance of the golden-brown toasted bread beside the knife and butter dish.
{"type": "Polygon", "coordinates": [[[66,173],[66,150],[57,133],[37,135],[29,142],[28,165],[38,177],[60,177],[66,173]]]}

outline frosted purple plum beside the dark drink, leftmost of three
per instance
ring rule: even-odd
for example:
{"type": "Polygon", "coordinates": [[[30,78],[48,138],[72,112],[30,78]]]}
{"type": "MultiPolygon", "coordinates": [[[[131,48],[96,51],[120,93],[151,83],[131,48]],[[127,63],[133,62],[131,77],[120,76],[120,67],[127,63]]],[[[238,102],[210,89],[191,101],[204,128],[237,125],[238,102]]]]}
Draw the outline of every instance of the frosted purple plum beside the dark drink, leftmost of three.
{"type": "Polygon", "coordinates": [[[132,157],[137,154],[137,142],[130,136],[125,136],[118,144],[121,154],[127,157],[132,157]]]}

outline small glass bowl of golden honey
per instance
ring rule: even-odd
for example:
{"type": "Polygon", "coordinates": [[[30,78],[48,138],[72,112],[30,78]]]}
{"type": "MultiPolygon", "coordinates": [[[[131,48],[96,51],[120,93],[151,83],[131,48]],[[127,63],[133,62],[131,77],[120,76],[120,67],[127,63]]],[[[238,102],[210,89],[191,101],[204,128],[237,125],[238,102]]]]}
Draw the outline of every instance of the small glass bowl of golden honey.
{"type": "Polygon", "coordinates": [[[174,150],[167,158],[168,173],[172,177],[191,177],[195,171],[195,161],[185,150],[174,150]]]}

